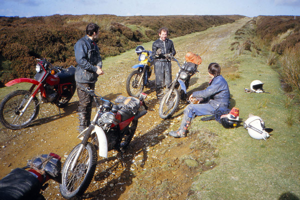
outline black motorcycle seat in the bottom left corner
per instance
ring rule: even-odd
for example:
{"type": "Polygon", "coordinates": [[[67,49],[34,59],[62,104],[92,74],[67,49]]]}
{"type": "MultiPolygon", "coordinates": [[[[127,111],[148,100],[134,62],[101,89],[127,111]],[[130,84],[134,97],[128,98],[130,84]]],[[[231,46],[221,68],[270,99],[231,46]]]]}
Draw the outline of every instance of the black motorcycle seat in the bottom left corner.
{"type": "Polygon", "coordinates": [[[22,168],[13,169],[0,180],[0,199],[35,199],[39,191],[38,179],[22,168]]]}

